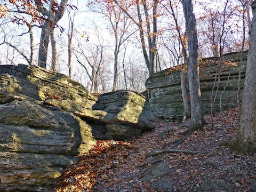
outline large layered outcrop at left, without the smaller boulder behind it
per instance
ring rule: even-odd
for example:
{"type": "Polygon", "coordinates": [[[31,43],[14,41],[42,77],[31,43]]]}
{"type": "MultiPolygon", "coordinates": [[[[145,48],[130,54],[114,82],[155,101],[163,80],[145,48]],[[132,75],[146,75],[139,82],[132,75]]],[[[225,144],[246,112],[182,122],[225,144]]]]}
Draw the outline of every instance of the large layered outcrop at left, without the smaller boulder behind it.
{"type": "Polygon", "coordinates": [[[95,99],[81,85],[41,68],[0,66],[0,74],[0,191],[50,191],[95,139],[91,126],[46,100],[73,95],[74,107],[91,107],[95,99]]]}

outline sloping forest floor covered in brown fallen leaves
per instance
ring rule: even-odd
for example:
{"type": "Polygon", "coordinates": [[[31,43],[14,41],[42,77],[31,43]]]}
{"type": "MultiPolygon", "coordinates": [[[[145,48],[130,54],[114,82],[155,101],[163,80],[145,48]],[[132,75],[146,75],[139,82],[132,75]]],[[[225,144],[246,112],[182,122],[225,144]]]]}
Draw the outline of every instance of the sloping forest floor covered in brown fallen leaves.
{"type": "Polygon", "coordinates": [[[54,191],[256,191],[256,154],[237,155],[222,145],[236,139],[238,116],[237,109],[218,113],[212,127],[206,115],[204,131],[175,148],[171,142],[187,129],[178,122],[158,121],[153,131],[125,142],[98,141],[63,172],[54,191]]]}

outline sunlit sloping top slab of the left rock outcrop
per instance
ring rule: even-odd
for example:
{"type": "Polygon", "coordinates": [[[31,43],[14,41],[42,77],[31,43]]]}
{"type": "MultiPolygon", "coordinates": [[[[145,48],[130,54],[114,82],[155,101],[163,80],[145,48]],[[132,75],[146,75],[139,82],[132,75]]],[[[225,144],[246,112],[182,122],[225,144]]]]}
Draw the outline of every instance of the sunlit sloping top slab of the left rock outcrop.
{"type": "Polygon", "coordinates": [[[27,96],[71,112],[82,110],[83,113],[84,110],[91,110],[98,100],[85,87],[66,75],[36,66],[29,69],[23,65],[0,66],[0,74],[0,103],[4,103],[3,99],[6,99],[4,93],[13,93],[15,97],[27,96]]]}

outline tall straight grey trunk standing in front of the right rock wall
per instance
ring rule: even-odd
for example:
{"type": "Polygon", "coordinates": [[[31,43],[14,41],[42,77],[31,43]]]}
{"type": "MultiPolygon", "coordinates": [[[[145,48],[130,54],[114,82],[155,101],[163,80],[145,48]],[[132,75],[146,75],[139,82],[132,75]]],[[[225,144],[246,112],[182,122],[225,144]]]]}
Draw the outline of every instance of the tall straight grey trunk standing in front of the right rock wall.
{"type": "Polygon", "coordinates": [[[188,31],[188,81],[191,105],[190,130],[202,130],[204,118],[199,81],[196,18],[191,0],[183,0],[182,5],[188,31]]]}

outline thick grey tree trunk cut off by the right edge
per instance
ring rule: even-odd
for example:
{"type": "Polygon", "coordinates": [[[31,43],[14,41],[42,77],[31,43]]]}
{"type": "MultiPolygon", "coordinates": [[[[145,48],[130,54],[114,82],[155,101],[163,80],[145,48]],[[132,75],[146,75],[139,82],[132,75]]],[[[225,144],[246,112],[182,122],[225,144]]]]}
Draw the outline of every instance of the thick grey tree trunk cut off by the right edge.
{"type": "Polygon", "coordinates": [[[252,3],[252,14],[237,146],[240,153],[254,154],[256,153],[256,1],[252,3]]]}

